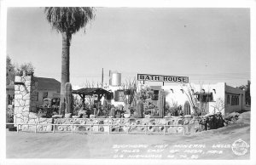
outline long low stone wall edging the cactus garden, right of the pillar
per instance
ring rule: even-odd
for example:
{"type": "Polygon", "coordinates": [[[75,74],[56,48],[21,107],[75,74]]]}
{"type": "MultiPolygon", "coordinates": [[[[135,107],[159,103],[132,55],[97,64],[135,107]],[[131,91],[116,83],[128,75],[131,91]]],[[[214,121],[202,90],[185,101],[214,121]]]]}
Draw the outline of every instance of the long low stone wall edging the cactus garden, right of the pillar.
{"type": "MultiPolygon", "coordinates": [[[[73,131],[147,134],[193,134],[221,128],[223,120],[218,117],[171,117],[171,118],[56,118],[55,124],[79,124],[73,131]],[[82,124],[89,124],[83,126],[82,124]],[[111,125],[110,127],[108,125],[111,125]],[[146,126],[147,128],[141,127],[146,126]],[[154,126],[155,125],[155,126],[154,126]],[[174,127],[173,127],[174,126],[174,127]],[[145,130],[147,129],[147,130],[145,130]]],[[[55,131],[72,131],[72,126],[56,125],[55,131]]]]}

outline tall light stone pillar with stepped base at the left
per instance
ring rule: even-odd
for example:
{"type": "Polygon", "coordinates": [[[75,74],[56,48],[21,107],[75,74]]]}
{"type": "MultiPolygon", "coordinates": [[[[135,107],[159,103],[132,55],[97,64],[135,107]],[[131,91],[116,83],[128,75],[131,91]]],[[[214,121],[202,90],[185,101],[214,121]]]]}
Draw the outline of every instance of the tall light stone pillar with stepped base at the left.
{"type": "MultiPolygon", "coordinates": [[[[38,82],[33,80],[33,76],[26,74],[15,77],[15,111],[14,123],[52,123],[52,118],[39,118],[36,111],[36,105],[33,103],[37,98],[38,82]]],[[[25,131],[34,131],[34,125],[19,125],[19,129],[25,131]]],[[[51,131],[52,126],[37,126],[38,131],[51,131]]]]}

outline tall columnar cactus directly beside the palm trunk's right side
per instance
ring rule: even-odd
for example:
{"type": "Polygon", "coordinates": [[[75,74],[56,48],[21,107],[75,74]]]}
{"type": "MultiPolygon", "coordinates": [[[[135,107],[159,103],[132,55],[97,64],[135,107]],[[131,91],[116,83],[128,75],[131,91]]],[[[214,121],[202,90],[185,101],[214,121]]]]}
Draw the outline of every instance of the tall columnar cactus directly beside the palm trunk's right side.
{"type": "Polygon", "coordinates": [[[65,113],[73,113],[73,94],[71,83],[65,83],[65,113]]]}

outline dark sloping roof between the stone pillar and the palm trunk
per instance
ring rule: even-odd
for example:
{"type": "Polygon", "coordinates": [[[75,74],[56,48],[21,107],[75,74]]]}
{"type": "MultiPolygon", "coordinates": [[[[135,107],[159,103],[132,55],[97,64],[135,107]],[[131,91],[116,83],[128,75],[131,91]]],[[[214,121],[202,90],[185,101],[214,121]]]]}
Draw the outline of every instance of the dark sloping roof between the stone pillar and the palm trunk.
{"type": "Polygon", "coordinates": [[[61,91],[61,83],[54,78],[34,77],[34,80],[38,82],[38,89],[61,91]]]}

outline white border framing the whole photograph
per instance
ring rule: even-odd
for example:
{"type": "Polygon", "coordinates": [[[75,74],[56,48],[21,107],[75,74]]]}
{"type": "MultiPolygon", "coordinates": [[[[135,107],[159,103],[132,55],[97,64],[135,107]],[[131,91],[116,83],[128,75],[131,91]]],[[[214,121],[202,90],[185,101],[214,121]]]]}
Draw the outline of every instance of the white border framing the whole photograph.
{"type": "MultiPolygon", "coordinates": [[[[1,91],[5,91],[5,58],[6,58],[6,15],[8,7],[46,7],[46,6],[94,6],[94,7],[132,7],[132,8],[250,8],[251,9],[251,96],[252,99],[256,98],[256,95],[253,91],[256,90],[254,82],[255,81],[255,43],[256,43],[256,34],[255,34],[255,21],[256,21],[256,12],[255,12],[255,1],[254,0],[73,0],[73,1],[57,1],[57,0],[3,0],[1,2],[1,31],[0,31],[0,58],[1,58],[1,91]],[[2,65],[3,63],[3,65],[2,65]]],[[[200,164],[256,164],[256,151],[255,147],[255,125],[256,121],[251,121],[251,159],[249,161],[203,161],[203,160],[113,160],[113,159],[5,159],[6,157],[6,136],[5,136],[5,94],[0,94],[1,100],[1,111],[0,111],[0,122],[1,122],[1,156],[0,164],[120,164],[120,163],[129,163],[129,164],[170,164],[170,163],[196,163],[200,164]]],[[[255,117],[254,111],[254,100],[252,100],[252,113],[251,118],[255,117]]]]}

